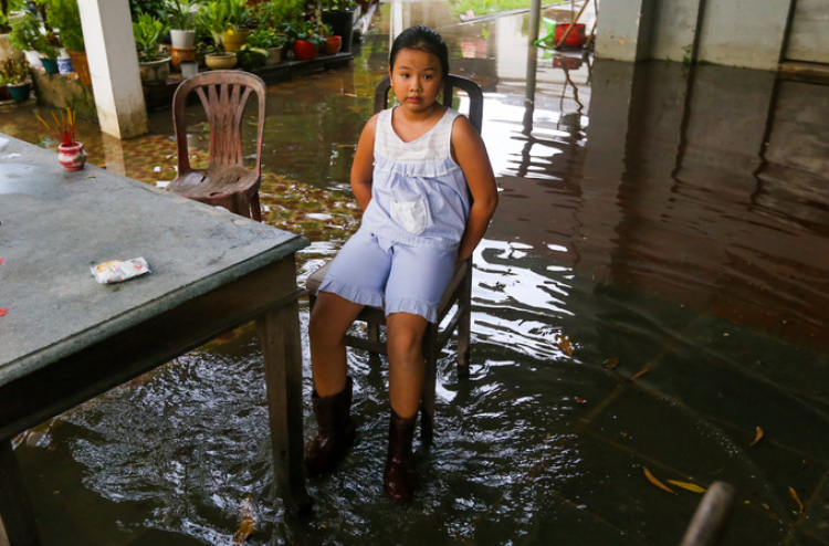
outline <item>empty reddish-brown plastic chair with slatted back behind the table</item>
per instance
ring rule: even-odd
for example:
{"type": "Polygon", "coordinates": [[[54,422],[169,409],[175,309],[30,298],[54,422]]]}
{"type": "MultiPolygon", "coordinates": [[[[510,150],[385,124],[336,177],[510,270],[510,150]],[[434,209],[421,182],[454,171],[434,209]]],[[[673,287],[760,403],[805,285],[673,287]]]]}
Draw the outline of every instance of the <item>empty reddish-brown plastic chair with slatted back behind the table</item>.
{"type": "Polygon", "coordinates": [[[259,187],[262,178],[262,139],[265,129],[265,84],[242,71],[210,71],[185,80],[172,97],[172,122],[178,149],[178,176],[167,189],[180,196],[262,221],[259,187]],[[210,162],[190,167],[185,106],[191,93],[201,99],[210,124],[210,162]],[[256,165],[244,167],[242,114],[251,93],[259,103],[256,165]]]}

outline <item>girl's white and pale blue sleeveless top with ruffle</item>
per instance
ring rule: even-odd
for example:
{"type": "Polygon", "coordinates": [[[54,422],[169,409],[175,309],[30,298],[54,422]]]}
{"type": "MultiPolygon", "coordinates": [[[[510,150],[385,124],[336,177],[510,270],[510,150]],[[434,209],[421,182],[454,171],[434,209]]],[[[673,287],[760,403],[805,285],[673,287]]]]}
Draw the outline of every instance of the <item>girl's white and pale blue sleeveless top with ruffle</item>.
{"type": "Polygon", "coordinates": [[[466,179],[451,153],[452,124],[461,114],[447,108],[434,127],[405,143],[391,126],[393,111],[377,118],[363,228],[410,246],[458,249],[470,210],[466,179]]]}

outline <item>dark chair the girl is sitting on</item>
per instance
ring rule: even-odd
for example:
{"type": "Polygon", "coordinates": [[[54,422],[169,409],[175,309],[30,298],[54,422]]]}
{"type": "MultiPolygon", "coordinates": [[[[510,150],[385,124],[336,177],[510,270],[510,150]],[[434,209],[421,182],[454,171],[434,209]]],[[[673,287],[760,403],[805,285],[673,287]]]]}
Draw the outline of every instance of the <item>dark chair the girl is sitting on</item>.
{"type": "MultiPolygon", "coordinates": [[[[386,108],[388,104],[388,92],[391,87],[389,77],[386,76],[377,85],[375,92],[375,112],[386,108]]],[[[443,88],[443,104],[452,105],[454,90],[461,90],[469,95],[469,119],[472,126],[480,133],[483,122],[483,92],[481,87],[472,80],[449,75],[443,88]]],[[[326,264],[308,276],[305,283],[307,288],[309,305],[313,308],[316,301],[316,293],[319,285],[325,279],[328,271],[326,264]]],[[[421,399],[420,414],[420,434],[423,442],[429,443],[433,437],[434,424],[434,389],[438,380],[438,357],[440,351],[447,345],[452,334],[458,332],[458,374],[460,376],[469,375],[469,348],[470,330],[472,326],[471,304],[472,300],[472,259],[465,260],[458,264],[449,287],[443,293],[440,305],[438,306],[438,322],[427,326],[423,336],[423,356],[426,359],[426,377],[423,380],[423,393],[421,399]],[[444,318],[454,308],[454,314],[449,319],[444,328],[440,325],[444,318]]],[[[386,326],[386,316],[380,307],[365,307],[357,317],[357,321],[365,322],[366,337],[353,334],[346,334],[344,342],[348,347],[365,349],[378,355],[388,355],[386,342],[380,337],[380,327],[386,326]]]]}

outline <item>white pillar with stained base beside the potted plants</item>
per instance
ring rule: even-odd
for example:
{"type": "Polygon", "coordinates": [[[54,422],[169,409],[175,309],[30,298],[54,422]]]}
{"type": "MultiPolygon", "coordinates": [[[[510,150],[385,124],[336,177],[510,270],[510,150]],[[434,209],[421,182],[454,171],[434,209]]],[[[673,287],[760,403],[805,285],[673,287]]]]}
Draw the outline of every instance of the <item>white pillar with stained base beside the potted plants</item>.
{"type": "Polygon", "coordinates": [[[128,0],[78,0],[101,130],[126,139],[147,133],[128,0]]]}

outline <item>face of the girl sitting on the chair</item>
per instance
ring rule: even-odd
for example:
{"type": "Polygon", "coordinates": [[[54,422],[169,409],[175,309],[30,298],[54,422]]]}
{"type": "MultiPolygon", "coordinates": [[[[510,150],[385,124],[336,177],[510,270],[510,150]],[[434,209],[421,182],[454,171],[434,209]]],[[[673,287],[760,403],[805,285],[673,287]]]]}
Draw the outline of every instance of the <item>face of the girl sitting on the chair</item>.
{"type": "Polygon", "coordinates": [[[427,112],[442,88],[440,59],[420,50],[402,49],[389,69],[398,102],[411,112],[427,112]]]}

